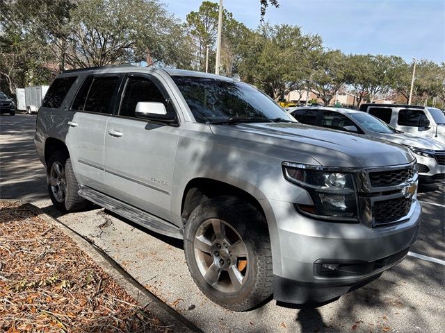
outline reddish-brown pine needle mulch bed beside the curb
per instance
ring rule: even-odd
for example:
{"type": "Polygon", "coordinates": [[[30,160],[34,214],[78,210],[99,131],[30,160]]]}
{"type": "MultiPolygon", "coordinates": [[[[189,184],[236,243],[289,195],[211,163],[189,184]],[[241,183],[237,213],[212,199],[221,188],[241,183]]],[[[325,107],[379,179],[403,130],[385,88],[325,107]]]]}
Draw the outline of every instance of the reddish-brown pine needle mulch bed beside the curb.
{"type": "Polygon", "coordinates": [[[0,202],[0,332],[170,332],[61,230],[0,202]]]}

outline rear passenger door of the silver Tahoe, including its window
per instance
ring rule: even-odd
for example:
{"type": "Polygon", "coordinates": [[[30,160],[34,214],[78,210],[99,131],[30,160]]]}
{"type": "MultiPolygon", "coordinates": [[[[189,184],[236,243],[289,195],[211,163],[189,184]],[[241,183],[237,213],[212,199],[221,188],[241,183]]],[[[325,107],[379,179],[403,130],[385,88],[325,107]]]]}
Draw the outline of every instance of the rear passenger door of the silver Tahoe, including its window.
{"type": "Polygon", "coordinates": [[[115,107],[120,76],[90,75],[85,78],[66,119],[66,137],[72,165],[80,184],[104,190],[104,135],[115,107]]]}

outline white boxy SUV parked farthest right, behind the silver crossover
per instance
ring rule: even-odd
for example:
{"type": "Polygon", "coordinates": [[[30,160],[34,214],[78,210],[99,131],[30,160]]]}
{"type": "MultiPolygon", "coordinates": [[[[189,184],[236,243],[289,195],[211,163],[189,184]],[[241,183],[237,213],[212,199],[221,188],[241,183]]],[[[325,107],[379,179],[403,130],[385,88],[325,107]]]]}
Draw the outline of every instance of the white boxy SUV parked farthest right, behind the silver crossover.
{"type": "Polygon", "coordinates": [[[382,119],[396,130],[431,137],[445,144],[445,115],[437,108],[405,104],[362,104],[360,110],[382,119]]]}

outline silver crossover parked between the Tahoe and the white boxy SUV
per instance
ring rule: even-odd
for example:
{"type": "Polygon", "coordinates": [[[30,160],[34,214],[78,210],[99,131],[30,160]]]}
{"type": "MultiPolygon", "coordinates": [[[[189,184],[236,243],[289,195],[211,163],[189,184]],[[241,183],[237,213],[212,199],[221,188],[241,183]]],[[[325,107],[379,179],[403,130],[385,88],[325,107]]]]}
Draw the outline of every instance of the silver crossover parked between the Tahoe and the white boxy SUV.
{"type": "Polygon", "coordinates": [[[445,180],[445,144],[428,137],[402,133],[384,121],[362,111],[343,108],[293,108],[289,113],[301,123],[357,133],[366,137],[402,144],[416,154],[419,181],[445,180]]]}

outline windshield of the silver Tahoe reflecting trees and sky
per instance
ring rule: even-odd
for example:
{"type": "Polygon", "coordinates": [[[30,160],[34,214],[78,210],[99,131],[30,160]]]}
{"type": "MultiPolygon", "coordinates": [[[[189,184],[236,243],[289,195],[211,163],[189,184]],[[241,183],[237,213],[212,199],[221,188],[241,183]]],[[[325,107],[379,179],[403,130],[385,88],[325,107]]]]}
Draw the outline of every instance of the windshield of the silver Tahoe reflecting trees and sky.
{"type": "Polygon", "coordinates": [[[200,123],[224,119],[295,121],[272,99],[245,83],[195,76],[172,78],[200,123]]]}

